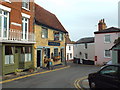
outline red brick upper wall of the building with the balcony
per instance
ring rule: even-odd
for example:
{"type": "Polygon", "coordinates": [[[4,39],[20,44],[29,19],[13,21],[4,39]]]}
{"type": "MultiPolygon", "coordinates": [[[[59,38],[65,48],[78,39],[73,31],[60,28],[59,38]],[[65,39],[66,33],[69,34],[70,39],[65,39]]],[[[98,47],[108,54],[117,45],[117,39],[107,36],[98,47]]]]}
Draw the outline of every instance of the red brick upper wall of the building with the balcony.
{"type": "Polygon", "coordinates": [[[11,8],[10,12],[10,29],[22,30],[21,26],[12,25],[11,22],[22,24],[22,14],[30,15],[29,19],[29,31],[33,32],[33,20],[34,20],[34,0],[30,2],[30,10],[22,9],[22,2],[1,2],[2,5],[11,8]]]}

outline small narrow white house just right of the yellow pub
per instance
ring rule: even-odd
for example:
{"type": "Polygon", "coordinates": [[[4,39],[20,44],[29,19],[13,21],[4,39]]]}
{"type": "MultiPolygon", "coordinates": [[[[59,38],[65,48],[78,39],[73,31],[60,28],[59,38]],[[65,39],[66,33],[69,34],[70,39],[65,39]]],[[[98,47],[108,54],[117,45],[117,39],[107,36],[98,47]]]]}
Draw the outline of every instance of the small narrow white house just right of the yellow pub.
{"type": "Polygon", "coordinates": [[[66,35],[66,60],[73,60],[74,59],[74,43],[70,40],[69,34],[66,35]]]}

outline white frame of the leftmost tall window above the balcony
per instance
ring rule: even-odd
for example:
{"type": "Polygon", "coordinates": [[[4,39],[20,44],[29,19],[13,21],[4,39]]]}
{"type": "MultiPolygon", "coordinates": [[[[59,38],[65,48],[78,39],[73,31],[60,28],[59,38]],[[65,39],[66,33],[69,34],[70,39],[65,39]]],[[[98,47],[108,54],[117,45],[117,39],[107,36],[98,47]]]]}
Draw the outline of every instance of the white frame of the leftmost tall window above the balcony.
{"type": "Polygon", "coordinates": [[[7,39],[8,38],[8,33],[9,33],[9,12],[8,11],[5,11],[3,9],[0,9],[2,10],[2,13],[0,14],[0,17],[2,17],[1,19],[1,35],[0,35],[0,38],[3,38],[3,39],[7,39]],[[7,15],[4,15],[4,12],[7,12],[7,15]],[[7,17],[7,28],[6,28],[6,37],[4,37],[4,32],[3,32],[3,29],[4,29],[4,17],[7,17]]]}

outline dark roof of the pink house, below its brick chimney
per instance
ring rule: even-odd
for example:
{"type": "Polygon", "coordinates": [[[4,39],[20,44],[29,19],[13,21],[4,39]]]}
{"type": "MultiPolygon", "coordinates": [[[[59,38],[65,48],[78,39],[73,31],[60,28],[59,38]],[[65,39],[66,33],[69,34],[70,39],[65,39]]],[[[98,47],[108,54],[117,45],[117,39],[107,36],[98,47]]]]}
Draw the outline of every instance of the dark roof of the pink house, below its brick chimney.
{"type": "Polygon", "coordinates": [[[114,32],[120,32],[120,28],[115,28],[115,27],[110,27],[104,30],[96,31],[94,34],[99,34],[99,33],[114,33],[114,32]]]}

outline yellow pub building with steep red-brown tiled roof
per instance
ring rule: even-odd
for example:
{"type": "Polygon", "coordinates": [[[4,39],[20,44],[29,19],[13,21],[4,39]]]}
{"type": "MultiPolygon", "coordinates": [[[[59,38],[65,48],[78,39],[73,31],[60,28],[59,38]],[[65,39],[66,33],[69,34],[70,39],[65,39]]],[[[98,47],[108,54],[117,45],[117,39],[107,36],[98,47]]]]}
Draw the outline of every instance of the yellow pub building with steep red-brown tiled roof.
{"type": "Polygon", "coordinates": [[[67,31],[57,17],[41,6],[35,4],[36,44],[34,45],[34,66],[46,67],[46,60],[53,65],[65,61],[65,34],[67,31]]]}

